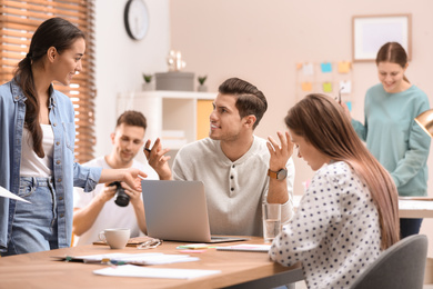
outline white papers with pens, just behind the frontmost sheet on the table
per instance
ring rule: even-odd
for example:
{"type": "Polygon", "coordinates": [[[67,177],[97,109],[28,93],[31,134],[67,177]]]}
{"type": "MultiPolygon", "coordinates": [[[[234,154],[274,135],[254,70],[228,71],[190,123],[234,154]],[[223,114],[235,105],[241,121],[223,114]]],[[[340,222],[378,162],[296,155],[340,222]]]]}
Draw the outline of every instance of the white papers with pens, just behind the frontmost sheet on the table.
{"type": "Polygon", "coordinates": [[[112,262],[112,263],[133,263],[133,265],[163,265],[177,262],[191,262],[200,260],[189,255],[168,255],[168,253],[103,253],[66,257],[69,261],[90,262],[112,262]]]}

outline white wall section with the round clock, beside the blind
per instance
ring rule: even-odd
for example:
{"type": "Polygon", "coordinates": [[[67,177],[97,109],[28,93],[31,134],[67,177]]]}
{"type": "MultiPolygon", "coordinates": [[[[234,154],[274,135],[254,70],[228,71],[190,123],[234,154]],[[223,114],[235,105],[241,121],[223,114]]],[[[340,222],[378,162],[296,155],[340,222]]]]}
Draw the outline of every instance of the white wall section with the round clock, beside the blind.
{"type": "Polygon", "coordinates": [[[142,73],[167,71],[170,50],[168,0],[145,0],[150,24],[144,39],[129,38],[123,24],[127,0],[95,0],[95,156],[111,151],[120,92],[141,89],[142,73]]]}

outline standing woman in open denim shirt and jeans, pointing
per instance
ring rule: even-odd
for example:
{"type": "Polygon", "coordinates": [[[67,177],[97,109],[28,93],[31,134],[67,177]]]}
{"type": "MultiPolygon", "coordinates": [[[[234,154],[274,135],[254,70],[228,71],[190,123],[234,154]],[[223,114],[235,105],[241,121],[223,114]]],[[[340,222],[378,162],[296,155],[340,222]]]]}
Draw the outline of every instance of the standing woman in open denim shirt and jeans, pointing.
{"type": "MultiPolygon", "coordinates": [[[[13,80],[0,87],[0,186],[31,203],[0,198],[0,252],[10,256],[69,247],[73,187],[124,181],[141,190],[138,169],[102,170],[74,162],[69,86],[81,70],[84,34],[61,18],[44,21],[13,80]]],[[[127,185],[124,185],[127,186],[127,185]]]]}

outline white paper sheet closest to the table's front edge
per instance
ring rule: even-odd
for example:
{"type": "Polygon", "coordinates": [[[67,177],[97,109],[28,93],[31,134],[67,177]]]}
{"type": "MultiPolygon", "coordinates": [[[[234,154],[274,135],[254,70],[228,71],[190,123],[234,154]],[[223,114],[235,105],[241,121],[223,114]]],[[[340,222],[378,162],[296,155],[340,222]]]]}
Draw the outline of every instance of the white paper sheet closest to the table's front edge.
{"type": "Polygon", "coordinates": [[[95,275],[118,276],[118,277],[145,277],[145,278],[168,278],[168,279],[191,279],[214,273],[220,270],[199,270],[199,269],[169,269],[169,268],[144,268],[133,265],[122,265],[94,270],[95,275]]]}

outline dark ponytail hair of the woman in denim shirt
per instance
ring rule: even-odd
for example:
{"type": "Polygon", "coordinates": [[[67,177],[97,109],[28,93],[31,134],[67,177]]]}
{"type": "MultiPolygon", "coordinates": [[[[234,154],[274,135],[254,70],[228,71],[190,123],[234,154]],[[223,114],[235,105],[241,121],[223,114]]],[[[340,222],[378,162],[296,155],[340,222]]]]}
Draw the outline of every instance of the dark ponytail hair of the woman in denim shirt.
{"type": "Polygon", "coordinates": [[[43,103],[39,103],[31,67],[42,61],[50,47],[54,47],[61,53],[78,38],[84,39],[84,33],[68,20],[58,17],[46,20],[36,30],[31,38],[29,53],[18,63],[14,72],[14,81],[27,97],[24,122],[33,139],[33,150],[39,158],[46,156],[42,148],[42,129],[39,123],[39,110],[43,103]]]}

